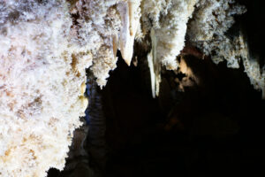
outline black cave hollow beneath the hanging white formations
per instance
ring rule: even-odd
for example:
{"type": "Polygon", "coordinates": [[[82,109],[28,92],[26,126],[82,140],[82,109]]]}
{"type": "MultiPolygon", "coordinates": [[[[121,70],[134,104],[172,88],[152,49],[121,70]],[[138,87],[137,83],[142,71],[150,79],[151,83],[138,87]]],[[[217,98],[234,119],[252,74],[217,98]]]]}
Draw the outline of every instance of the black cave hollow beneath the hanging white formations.
{"type": "Polygon", "coordinates": [[[146,59],[138,59],[129,68],[119,59],[96,89],[102,109],[92,115],[102,120],[90,119],[88,167],[49,176],[264,174],[265,104],[242,69],[186,56],[179,62],[190,73],[164,71],[154,99],[146,59]]]}

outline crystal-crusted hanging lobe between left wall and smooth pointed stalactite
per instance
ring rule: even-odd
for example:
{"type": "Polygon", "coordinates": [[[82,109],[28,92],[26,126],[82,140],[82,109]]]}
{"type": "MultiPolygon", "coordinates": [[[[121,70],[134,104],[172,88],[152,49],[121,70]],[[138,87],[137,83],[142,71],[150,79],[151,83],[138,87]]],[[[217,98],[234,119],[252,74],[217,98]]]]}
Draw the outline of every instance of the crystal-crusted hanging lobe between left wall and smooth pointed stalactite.
{"type": "Polygon", "coordinates": [[[86,1],[79,0],[72,5],[72,14],[76,15],[76,33],[79,48],[90,50],[93,54],[91,70],[100,86],[106,85],[110,70],[116,68],[117,58],[113,50],[113,36],[120,28],[117,0],[86,1]]]}

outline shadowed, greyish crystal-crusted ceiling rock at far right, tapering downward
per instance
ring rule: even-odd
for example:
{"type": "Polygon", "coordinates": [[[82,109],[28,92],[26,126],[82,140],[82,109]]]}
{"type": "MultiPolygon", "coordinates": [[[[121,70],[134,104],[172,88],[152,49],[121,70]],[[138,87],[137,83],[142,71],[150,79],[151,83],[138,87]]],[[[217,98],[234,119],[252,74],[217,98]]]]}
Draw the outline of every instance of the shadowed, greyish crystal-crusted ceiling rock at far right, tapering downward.
{"type": "Polygon", "coordinates": [[[226,60],[228,67],[239,68],[242,59],[254,89],[262,90],[265,98],[265,65],[259,64],[257,56],[250,55],[242,29],[229,32],[235,23],[234,16],[245,12],[246,7],[235,0],[201,0],[196,4],[187,35],[189,41],[211,56],[216,64],[226,60]]]}

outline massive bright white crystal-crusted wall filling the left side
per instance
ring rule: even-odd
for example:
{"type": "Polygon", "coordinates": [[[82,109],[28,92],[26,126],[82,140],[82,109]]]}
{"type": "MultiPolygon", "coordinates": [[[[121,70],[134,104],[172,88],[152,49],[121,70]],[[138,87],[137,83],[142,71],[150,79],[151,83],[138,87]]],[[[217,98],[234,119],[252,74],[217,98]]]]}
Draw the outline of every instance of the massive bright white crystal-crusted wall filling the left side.
{"type": "Polygon", "coordinates": [[[46,176],[64,168],[92,58],[74,50],[64,1],[0,2],[0,175],[46,176]]]}

